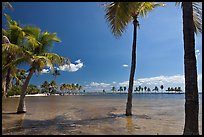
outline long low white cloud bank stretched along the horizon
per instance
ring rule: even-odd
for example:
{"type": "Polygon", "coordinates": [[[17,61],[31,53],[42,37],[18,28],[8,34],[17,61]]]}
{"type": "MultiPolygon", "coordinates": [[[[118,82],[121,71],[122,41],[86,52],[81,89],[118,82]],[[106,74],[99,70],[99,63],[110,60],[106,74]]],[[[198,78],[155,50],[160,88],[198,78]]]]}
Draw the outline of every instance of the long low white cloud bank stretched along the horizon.
{"type": "MultiPolygon", "coordinates": [[[[199,91],[202,91],[202,74],[198,74],[198,88],[199,91]]],[[[85,85],[85,89],[88,91],[99,91],[101,92],[105,89],[107,92],[111,92],[111,87],[115,86],[118,88],[119,86],[128,87],[129,81],[123,82],[111,82],[111,83],[99,83],[99,82],[91,82],[85,85]]],[[[178,87],[180,86],[182,90],[184,90],[184,75],[172,75],[172,76],[157,76],[157,77],[149,77],[149,78],[140,78],[134,81],[134,86],[147,86],[151,89],[155,86],[160,87],[160,85],[164,85],[165,89],[167,87],[178,87]]]]}

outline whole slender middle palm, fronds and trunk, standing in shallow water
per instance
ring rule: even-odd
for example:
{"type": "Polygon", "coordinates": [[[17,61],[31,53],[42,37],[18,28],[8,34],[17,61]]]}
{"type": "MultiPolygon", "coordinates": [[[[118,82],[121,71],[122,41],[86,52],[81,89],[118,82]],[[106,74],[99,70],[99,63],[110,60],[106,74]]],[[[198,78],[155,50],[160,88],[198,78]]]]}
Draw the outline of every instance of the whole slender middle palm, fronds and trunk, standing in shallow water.
{"type": "Polygon", "coordinates": [[[129,78],[126,116],[132,115],[132,90],[136,68],[136,37],[139,25],[138,17],[144,17],[155,7],[164,6],[155,2],[112,2],[105,5],[106,19],[111,26],[112,33],[119,37],[124,32],[129,22],[133,22],[132,63],[129,78]]]}

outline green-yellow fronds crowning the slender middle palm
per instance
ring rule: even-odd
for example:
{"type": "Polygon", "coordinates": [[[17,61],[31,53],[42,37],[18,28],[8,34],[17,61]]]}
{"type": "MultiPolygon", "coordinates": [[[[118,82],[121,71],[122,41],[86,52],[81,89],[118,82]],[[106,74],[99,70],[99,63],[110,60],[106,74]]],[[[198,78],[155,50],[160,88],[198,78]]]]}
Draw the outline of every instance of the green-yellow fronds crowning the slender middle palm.
{"type": "Polygon", "coordinates": [[[147,13],[158,6],[154,2],[112,2],[105,6],[105,18],[117,38],[125,31],[128,23],[138,16],[145,17],[147,13]]]}

